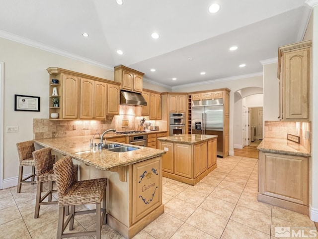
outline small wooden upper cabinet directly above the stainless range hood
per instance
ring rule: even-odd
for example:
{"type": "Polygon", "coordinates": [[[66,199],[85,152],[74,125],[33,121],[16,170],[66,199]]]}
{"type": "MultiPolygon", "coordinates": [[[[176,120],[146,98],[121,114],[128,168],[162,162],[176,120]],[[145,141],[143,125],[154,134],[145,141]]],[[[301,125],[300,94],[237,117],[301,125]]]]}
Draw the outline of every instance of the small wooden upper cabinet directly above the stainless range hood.
{"type": "Polygon", "coordinates": [[[116,66],[114,80],[121,83],[121,89],[142,93],[144,73],[120,65],[116,66]]]}

